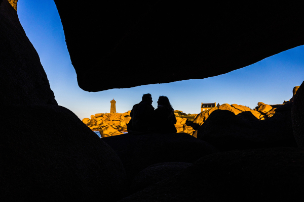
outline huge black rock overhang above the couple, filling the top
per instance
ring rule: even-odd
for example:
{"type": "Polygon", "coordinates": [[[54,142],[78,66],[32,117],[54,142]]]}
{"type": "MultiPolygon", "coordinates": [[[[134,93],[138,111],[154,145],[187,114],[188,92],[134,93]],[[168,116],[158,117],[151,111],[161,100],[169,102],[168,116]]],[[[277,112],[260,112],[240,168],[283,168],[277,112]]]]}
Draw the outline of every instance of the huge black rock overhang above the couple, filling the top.
{"type": "Polygon", "coordinates": [[[87,91],[207,78],[304,44],[300,1],[54,1],[87,91]]]}

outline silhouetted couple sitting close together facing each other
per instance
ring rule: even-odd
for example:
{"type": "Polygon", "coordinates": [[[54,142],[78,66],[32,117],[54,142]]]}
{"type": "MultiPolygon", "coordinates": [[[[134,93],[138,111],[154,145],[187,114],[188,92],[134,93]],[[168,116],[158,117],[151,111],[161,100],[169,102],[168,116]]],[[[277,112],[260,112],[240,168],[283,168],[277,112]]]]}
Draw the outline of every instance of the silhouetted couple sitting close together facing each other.
{"type": "Polygon", "coordinates": [[[141,102],[134,105],[127,124],[128,133],[176,133],[176,118],[168,97],[160,96],[157,109],[152,106],[150,93],[142,95],[141,102]]]}

